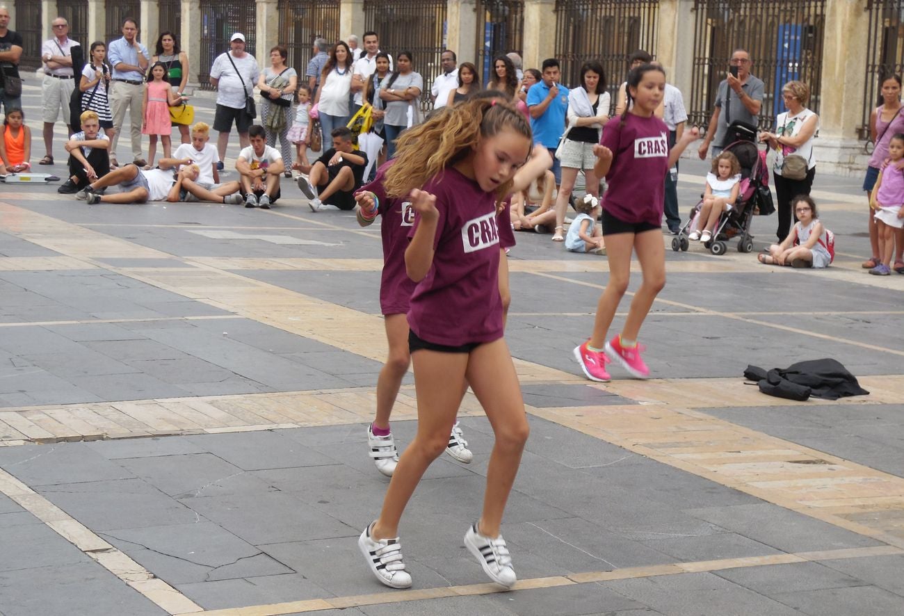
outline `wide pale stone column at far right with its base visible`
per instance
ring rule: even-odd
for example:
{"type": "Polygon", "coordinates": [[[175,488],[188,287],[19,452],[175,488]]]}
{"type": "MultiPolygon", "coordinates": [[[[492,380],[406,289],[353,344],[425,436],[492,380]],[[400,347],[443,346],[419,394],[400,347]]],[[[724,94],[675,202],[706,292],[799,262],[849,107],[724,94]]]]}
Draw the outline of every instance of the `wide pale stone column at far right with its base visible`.
{"type": "Polygon", "coordinates": [[[857,137],[867,79],[862,42],[867,40],[867,0],[825,3],[819,138],[814,142],[816,173],[861,174],[868,156],[857,137]],[[839,87],[843,84],[843,87],[839,87]]]}

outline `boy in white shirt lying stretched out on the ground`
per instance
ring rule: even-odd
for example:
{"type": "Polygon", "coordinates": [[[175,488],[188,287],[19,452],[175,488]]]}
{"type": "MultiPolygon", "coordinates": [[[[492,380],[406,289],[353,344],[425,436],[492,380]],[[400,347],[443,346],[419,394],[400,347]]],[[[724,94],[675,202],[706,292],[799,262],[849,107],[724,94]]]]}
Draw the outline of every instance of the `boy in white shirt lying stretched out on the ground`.
{"type": "MultiPolygon", "coordinates": [[[[144,171],[139,169],[137,164],[129,163],[124,167],[120,167],[111,171],[96,182],[91,182],[85,189],[86,200],[90,204],[94,203],[146,203],[147,201],[180,201],[180,191],[183,189],[183,182],[198,179],[199,169],[196,164],[189,164],[179,170],[177,178],[174,178],[173,172],[164,169],[150,169],[144,171]],[[103,194],[101,189],[108,186],[119,186],[120,192],[113,194],[103,194]]],[[[213,194],[211,191],[204,191],[201,187],[195,186],[197,191],[195,194],[201,201],[213,201],[214,203],[239,203],[240,196],[238,194],[221,195],[213,194]]]]}

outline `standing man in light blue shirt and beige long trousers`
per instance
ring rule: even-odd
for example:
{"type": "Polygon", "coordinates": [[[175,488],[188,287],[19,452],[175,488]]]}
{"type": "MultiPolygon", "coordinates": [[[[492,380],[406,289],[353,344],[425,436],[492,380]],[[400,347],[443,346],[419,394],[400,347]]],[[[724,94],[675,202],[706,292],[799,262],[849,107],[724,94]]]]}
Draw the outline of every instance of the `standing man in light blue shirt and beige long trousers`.
{"type": "Polygon", "coordinates": [[[135,159],[133,162],[144,167],[147,163],[141,157],[141,125],[145,118],[141,115],[141,107],[145,100],[145,73],[151,54],[138,42],[138,24],[133,17],[122,21],[122,38],[110,42],[107,57],[113,67],[110,107],[113,111],[113,127],[116,129],[113,143],[110,144],[110,164],[119,166],[116,146],[122,135],[122,123],[128,109],[132,155],[135,159]]]}

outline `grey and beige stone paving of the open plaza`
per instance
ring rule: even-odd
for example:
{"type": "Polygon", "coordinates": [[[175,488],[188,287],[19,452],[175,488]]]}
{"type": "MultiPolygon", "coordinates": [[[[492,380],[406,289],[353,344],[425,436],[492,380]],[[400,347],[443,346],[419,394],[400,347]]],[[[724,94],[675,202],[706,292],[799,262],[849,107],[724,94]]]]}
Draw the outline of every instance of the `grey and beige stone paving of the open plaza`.
{"type": "MultiPolygon", "coordinates": [[[[708,165],[682,164],[686,216],[708,165]]],[[[365,438],[386,352],[376,226],[313,214],[292,185],[264,211],[0,184],[0,614],[904,613],[904,276],[860,267],[861,179],[816,178],[834,265],[667,249],[647,381],[590,384],[571,357],[606,258],[517,234],[506,337],[532,435],[507,593],[462,542],[492,447],[471,395],[474,462],[441,457],[402,519],[412,589],[358,552],[388,483],[365,438]],[[742,378],[823,357],[871,394],[792,403],[742,378]]],[[[757,250],[776,224],[754,222],[757,250]]]]}

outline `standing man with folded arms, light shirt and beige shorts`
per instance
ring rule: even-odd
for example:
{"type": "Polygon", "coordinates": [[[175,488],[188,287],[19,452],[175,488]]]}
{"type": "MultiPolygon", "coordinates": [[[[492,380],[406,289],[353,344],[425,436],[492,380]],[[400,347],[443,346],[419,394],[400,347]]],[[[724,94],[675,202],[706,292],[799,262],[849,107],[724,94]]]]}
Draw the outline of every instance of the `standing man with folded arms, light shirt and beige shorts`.
{"type": "MultiPolygon", "coordinates": [[[[41,82],[42,119],[44,121],[45,156],[39,164],[53,164],[53,125],[60,118],[69,132],[69,99],[75,89],[72,72],[72,47],[79,42],[69,38],[69,22],[57,17],[52,23],[53,38],[41,46],[44,78],[41,82]]],[[[81,67],[79,67],[81,69],[81,67]]]]}

